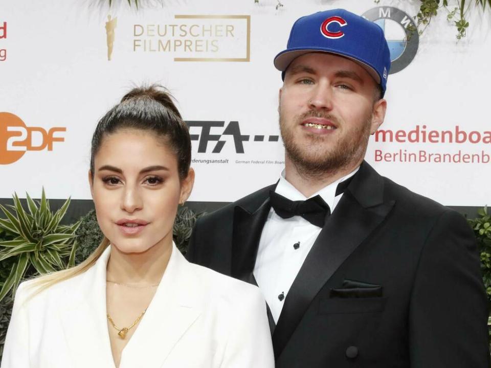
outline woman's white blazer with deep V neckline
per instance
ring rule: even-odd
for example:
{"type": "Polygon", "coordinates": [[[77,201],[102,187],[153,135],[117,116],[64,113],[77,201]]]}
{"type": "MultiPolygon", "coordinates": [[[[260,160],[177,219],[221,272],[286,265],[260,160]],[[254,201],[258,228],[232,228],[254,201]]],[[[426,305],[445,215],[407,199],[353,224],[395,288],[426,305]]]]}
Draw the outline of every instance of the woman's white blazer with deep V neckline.
{"type": "MultiPolygon", "coordinates": [[[[114,368],[106,319],[109,247],[83,274],[15,297],[2,368],[114,368]]],[[[173,245],[120,368],[274,368],[266,304],[256,286],[186,261],[173,245]]]]}

